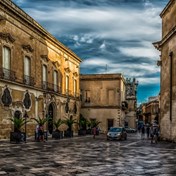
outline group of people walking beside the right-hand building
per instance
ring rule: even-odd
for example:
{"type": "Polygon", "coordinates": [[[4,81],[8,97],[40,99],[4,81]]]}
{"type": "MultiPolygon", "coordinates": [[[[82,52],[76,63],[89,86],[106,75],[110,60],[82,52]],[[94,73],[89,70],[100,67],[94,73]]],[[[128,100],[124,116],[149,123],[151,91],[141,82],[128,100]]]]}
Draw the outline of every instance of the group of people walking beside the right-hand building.
{"type": "Polygon", "coordinates": [[[145,139],[145,136],[147,135],[147,139],[151,139],[151,143],[157,143],[158,137],[159,137],[159,126],[154,124],[146,124],[141,125],[140,128],[138,128],[139,132],[141,133],[141,139],[145,139]]]}

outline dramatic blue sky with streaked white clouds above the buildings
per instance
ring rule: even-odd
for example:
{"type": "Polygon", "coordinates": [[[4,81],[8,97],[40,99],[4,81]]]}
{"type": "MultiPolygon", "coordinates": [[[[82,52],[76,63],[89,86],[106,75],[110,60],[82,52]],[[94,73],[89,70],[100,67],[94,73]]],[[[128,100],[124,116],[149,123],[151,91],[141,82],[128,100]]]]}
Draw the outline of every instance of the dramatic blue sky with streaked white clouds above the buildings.
{"type": "Polygon", "coordinates": [[[82,60],[81,73],[136,78],[138,104],[159,93],[160,12],[169,0],[13,0],[82,60]]]}

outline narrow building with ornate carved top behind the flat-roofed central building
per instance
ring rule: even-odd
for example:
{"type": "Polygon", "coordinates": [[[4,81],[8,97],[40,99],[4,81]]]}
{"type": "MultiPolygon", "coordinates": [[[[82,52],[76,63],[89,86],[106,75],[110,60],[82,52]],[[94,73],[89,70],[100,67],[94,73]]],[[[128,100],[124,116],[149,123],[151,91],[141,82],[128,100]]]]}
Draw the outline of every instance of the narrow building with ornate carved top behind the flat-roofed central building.
{"type": "Polygon", "coordinates": [[[125,126],[136,128],[136,110],[137,110],[137,86],[136,79],[126,79],[126,102],[128,109],[125,115],[125,126]]]}

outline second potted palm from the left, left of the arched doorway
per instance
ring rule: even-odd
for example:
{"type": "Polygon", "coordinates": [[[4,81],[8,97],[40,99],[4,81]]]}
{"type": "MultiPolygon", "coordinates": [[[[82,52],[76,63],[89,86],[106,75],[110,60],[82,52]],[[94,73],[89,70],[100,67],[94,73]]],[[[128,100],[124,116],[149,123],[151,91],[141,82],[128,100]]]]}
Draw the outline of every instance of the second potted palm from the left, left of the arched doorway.
{"type": "Polygon", "coordinates": [[[42,140],[47,140],[48,139],[48,135],[47,132],[44,131],[44,125],[46,122],[48,122],[49,118],[32,118],[33,120],[35,120],[37,122],[37,126],[36,126],[36,131],[35,131],[35,140],[39,141],[39,138],[42,138],[42,140]],[[42,131],[40,130],[42,129],[42,131]]]}

